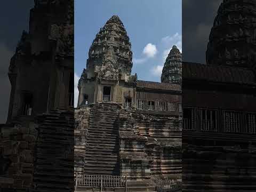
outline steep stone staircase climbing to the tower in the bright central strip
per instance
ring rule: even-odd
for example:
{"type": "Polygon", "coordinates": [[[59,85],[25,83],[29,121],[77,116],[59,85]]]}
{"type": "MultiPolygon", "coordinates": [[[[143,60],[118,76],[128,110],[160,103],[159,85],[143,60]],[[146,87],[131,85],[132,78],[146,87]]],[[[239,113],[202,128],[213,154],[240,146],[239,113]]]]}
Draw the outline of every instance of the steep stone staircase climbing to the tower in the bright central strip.
{"type": "Polygon", "coordinates": [[[93,103],[89,117],[85,174],[119,175],[118,109],[116,103],[93,103]]]}

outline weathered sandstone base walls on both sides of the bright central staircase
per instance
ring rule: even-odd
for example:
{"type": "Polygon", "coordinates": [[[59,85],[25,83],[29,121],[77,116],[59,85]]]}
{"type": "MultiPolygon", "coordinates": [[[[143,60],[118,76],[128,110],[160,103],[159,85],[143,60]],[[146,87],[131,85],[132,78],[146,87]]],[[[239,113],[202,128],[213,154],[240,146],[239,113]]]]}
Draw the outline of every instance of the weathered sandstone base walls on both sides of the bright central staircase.
{"type": "MultiPolygon", "coordinates": [[[[75,112],[75,174],[86,174],[83,168],[91,110],[82,107],[75,112]]],[[[143,114],[122,107],[117,113],[120,174],[129,179],[181,179],[181,114],[143,114]]]]}

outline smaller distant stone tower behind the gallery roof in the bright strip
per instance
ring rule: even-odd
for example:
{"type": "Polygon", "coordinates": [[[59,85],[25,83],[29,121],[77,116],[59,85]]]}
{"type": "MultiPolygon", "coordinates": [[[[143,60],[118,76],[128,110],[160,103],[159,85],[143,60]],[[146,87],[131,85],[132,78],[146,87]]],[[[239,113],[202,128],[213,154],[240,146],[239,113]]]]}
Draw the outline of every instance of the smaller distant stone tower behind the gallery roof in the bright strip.
{"type": "Polygon", "coordinates": [[[182,54],[177,46],[173,45],[165,60],[162,71],[162,83],[181,84],[182,80],[182,54]]]}

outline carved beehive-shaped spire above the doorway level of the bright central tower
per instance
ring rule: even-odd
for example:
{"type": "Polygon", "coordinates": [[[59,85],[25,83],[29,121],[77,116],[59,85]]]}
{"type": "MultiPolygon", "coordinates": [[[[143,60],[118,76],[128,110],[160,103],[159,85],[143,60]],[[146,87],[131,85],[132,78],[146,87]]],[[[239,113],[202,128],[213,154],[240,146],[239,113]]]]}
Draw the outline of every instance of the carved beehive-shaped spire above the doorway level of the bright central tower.
{"type": "Polygon", "coordinates": [[[117,15],[100,28],[90,47],[86,68],[87,78],[129,79],[132,70],[131,43],[117,15]]]}

